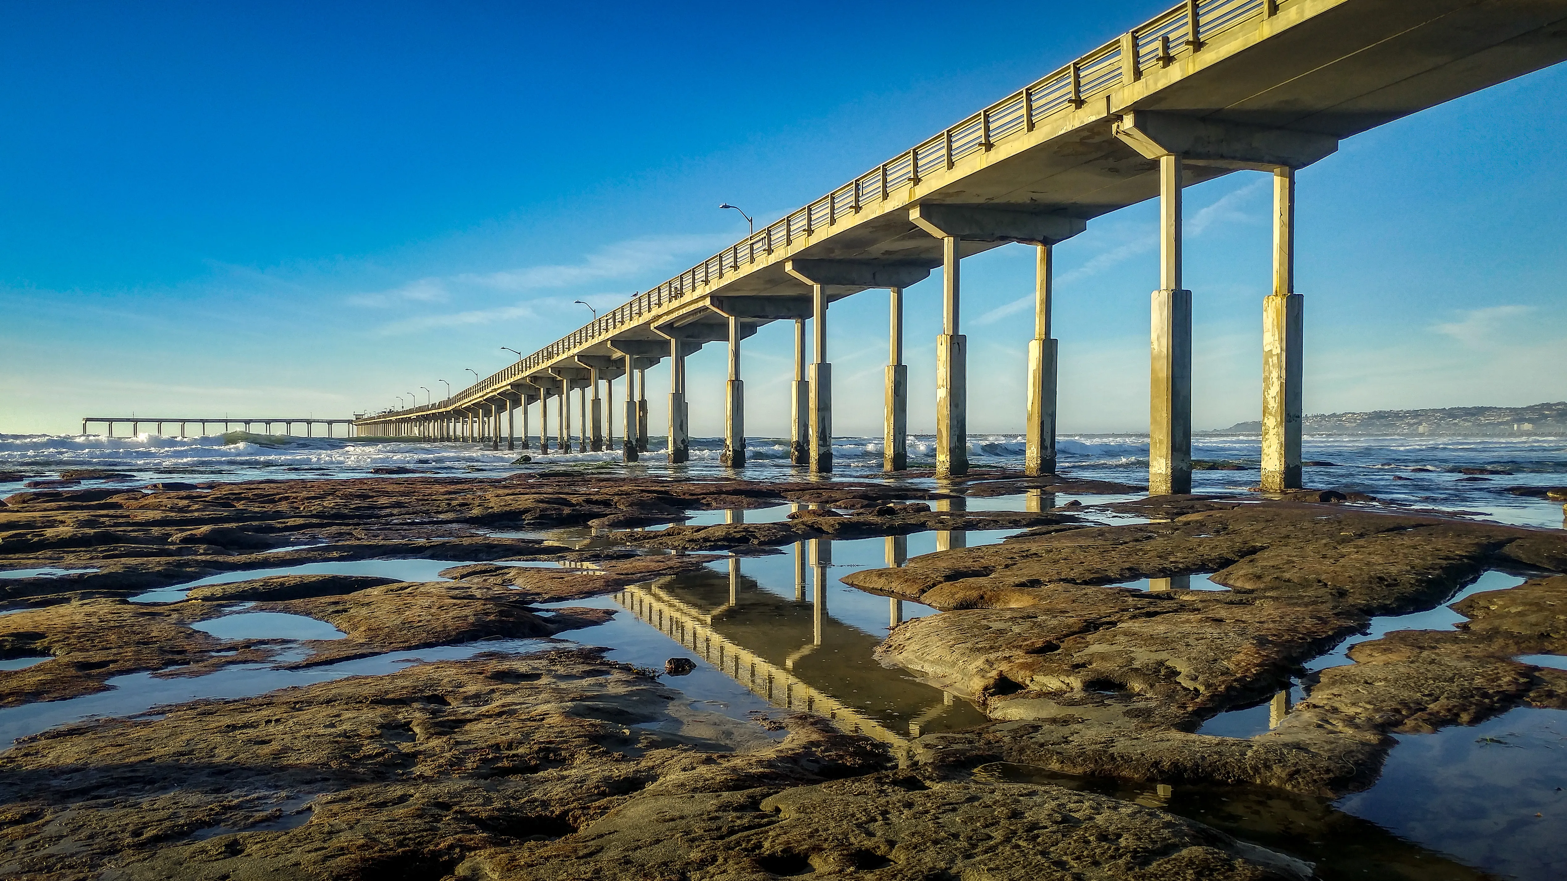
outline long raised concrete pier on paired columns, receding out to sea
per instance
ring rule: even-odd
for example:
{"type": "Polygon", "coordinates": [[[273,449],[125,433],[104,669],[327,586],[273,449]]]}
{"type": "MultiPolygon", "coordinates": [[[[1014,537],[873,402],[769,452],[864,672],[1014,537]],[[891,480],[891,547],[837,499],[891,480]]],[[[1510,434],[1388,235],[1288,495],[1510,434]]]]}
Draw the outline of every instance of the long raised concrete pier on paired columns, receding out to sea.
{"type": "MultiPolygon", "coordinates": [[[[1048,27],[1047,19],[1031,24],[1048,27]]],[[[906,464],[904,309],[939,309],[937,473],[964,475],[968,343],[961,262],[1022,245],[1037,252],[1034,334],[1026,365],[1020,364],[1028,389],[1020,408],[1026,470],[1053,473],[1051,249],[1095,218],[1158,199],[1149,491],[1189,492],[1194,292],[1182,277],[1182,191],[1227,174],[1266,174],[1274,237],[1271,293],[1257,304],[1261,483],[1269,491],[1299,488],[1305,307],[1294,288],[1296,171],[1334,154],[1344,138],[1562,61],[1564,24],[1561,0],[1188,0],[505,370],[442,401],[360,419],[357,430],[508,450],[536,445],[547,453],[611,450],[619,422],[622,455],[636,461],[647,450],[647,368],[668,359],[669,461],[683,462],[686,401],[697,393],[686,386],[685,359],[707,343],[724,343],[727,381],[705,393],[724,395],[724,462],[743,467],[740,346],[766,324],[785,321],[794,335],[791,458],[812,472],[831,472],[829,307],[885,290],[884,467],[895,472],[906,464]],[[903,290],[935,268],[940,301],[906,303],[903,290]],[[614,381],[622,378],[624,403],[616,403],[614,381]]]]}

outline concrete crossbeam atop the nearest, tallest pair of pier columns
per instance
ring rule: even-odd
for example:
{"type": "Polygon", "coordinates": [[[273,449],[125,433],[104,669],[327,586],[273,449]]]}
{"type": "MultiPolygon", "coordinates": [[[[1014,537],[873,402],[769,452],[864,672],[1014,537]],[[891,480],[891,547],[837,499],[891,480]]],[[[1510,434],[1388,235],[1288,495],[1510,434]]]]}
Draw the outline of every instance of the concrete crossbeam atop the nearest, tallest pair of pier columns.
{"type": "Polygon", "coordinates": [[[1114,130],[1117,138],[1147,158],[1178,155],[1219,168],[1305,168],[1338,150],[1334,135],[1150,110],[1127,113],[1114,130]]]}

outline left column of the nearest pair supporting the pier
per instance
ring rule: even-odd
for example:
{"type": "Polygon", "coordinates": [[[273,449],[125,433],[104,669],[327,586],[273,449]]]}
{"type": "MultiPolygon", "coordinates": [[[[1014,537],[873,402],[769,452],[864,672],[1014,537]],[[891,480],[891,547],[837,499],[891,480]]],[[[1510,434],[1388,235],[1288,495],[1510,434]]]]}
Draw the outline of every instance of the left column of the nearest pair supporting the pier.
{"type": "Polygon", "coordinates": [[[1191,292],[1182,288],[1182,161],[1160,157],[1160,290],[1149,375],[1149,494],[1191,492],[1191,292]]]}

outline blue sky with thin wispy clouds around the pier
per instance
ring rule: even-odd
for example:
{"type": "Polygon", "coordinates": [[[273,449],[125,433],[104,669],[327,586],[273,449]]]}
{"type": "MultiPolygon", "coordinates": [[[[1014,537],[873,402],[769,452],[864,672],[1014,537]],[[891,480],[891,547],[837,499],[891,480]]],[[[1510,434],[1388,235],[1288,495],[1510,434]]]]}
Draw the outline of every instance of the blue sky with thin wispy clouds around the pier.
{"type": "MultiPolygon", "coordinates": [[[[465,386],[1166,3],[11,3],[0,433],[86,414],[331,415],[465,386]],[[809,22],[809,25],[804,25],[809,22]],[[1006,24],[1009,22],[1009,24],[1006,24]]],[[[1567,398],[1567,67],[1299,174],[1310,412],[1567,398]]],[[[1260,409],[1269,190],[1186,196],[1194,422],[1260,409]]],[[[1058,248],[1064,431],[1147,423],[1152,204],[1058,248]]],[[[940,274],[909,290],[934,425],[940,274]]],[[[965,260],[970,428],[1022,425],[1033,256],[965,260]],[[1026,304],[1026,299],[1023,301],[1026,304]]],[[[784,431],[791,331],[747,340],[784,431]]],[[[834,306],[840,433],[879,434],[885,295],[834,306]]],[[[693,431],[724,356],[691,359],[693,431]]],[[[658,425],[664,367],[650,372],[658,425]]]]}

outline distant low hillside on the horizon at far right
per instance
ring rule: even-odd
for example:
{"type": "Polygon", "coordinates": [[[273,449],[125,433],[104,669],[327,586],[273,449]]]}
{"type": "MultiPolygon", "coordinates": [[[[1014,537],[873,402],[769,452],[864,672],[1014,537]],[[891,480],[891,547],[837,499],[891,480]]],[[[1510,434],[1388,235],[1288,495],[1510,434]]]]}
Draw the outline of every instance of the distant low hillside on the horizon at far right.
{"type": "MultiPolygon", "coordinates": [[[[1260,434],[1261,422],[1238,422],[1225,434],[1260,434]]],[[[1310,414],[1307,434],[1464,434],[1529,436],[1567,434],[1567,401],[1526,408],[1379,409],[1376,412],[1310,414]]]]}

